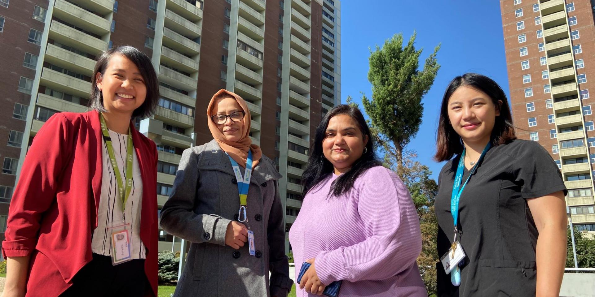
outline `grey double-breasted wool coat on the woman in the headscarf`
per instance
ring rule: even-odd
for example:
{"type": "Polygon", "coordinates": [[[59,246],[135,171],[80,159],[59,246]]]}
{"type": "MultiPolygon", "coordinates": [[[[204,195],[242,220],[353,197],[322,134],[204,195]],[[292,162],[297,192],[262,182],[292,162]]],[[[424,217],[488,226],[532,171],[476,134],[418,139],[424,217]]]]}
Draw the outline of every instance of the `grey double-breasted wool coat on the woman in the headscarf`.
{"type": "MultiPolygon", "coordinates": [[[[243,176],[244,168],[240,170],[243,176]]],[[[239,250],[225,245],[227,225],[237,220],[240,206],[229,157],[215,140],[184,150],[160,221],[168,233],[192,242],[175,297],[287,296],[293,281],[285,255],[279,178],[274,163],[262,155],[248,191],[245,224],[254,232],[256,249],[250,255],[248,244],[239,250]]]]}

